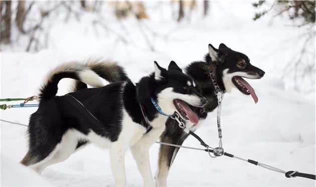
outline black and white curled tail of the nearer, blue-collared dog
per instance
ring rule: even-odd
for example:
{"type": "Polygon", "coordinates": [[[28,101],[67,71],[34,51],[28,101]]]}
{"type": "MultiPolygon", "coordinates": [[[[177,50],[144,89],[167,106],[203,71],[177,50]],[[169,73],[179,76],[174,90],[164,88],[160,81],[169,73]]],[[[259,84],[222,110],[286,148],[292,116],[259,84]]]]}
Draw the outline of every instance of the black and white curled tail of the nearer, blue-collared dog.
{"type": "Polygon", "coordinates": [[[93,87],[102,87],[102,79],[84,64],[77,62],[64,63],[50,71],[41,86],[40,98],[50,99],[56,96],[58,83],[63,78],[71,78],[93,87]]]}

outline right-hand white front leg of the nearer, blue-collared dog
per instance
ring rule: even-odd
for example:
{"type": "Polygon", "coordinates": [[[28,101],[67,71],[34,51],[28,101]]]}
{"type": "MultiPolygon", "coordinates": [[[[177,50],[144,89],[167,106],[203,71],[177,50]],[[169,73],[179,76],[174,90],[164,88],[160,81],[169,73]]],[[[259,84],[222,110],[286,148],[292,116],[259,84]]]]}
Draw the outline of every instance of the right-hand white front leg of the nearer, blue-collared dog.
{"type": "MultiPolygon", "coordinates": [[[[141,141],[141,140],[140,140],[141,141]]],[[[149,146],[144,145],[142,142],[137,142],[130,150],[137,163],[137,168],[143,179],[144,187],[153,187],[153,178],[149,162],[149,146]]]]}

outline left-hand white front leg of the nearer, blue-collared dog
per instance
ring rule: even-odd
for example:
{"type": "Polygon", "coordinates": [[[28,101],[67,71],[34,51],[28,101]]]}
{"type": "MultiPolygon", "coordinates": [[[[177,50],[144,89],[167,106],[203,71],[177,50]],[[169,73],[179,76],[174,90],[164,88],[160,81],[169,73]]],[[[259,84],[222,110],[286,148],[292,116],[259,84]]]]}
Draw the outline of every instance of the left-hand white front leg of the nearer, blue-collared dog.
{"type": "Polygon", "coordinates": [[[116,187],[124,187],[126,185],[125,151],[126,149],[120,147],[112,147],[110,149],[111,167],[116,187]]]}

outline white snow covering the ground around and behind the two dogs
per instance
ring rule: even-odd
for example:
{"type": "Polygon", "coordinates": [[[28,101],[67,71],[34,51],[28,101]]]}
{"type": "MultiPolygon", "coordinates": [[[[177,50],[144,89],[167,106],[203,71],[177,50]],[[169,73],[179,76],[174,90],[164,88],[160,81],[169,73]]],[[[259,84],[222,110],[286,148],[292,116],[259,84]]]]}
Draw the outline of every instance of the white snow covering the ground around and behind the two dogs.
{"type": "MultiPolygon", "coordinates": [[[[80,23],[59,23],[52,27],[48,49],[37,53],[6,49],[1,52],[1,98],[38,94],[45,74],[65,61],[110,58],[124,66],[131,79],[137,82],[141,76],[153,71],[154,60],[163,67],[171,60],[185,67],[192,61],[201,60],[209,43],[214,46],[225,43],[248,55],[253,65],[266,72],[260,80],[249,80],[259,97],[257,104],[237,90],[225,95],[221,117],[225,150],[284,170],[315,173],[314,83],[304,82],[306,86],[302,90],[308,92],[298,93],[291,89],[290,79],[281,77],[282,69],[295,59],[303,43],[298,36],[304,28],[284,26],[278,18],[253,22],[254,10],[250,2],[212,2],[209,17],[194,16],[190,23],[181,24],[170,20],[169,6],[157,9],[155,6],[151,5],[154,10],[152,19],[146,21],[147,27],[157,33],[153,37],[146,30],[155,52],[148,50],[135,20],[117,24],[107,18],[108,27],[128,38],[129,43],[123,44],[113,34],[106,34],[101,29],[96,35],[89,24],[93,15],[83,17],[80,23]]],[[[314,52],[314,49],[311,44],[309,50],[314,52]]],[[[67,93],[70,85],[70,80],[61,81],[58,94],[67,93]]],[[[35,111],[36,108],[9,109],[1,111],[1,119],[27,124],[29,115],[35,111]]],[[[35,186],[36,183],[38,186],[46,183],[54,186],[113,186],[107,150],[89,145],[37,176],[17,164],[27,151],[26,128],[5,122],[0,124],[2,186],[35,186]],[[27,183],[30,180],[35,182],[27,183]]],[[[197,133],[211,146],[217,145],[214,112],[197,133]]],[[[192,137],[184,145],[200,147],[192,137]]],[[[153,171],[157,168],[158,148],[157,144],[150,148],[153,171]]],[[[126,155],[125,165],[128,186],[141,186],[141,176],[130,152],[126,155]]],[[[168,185],[315,186],[315,183],[310,179],[285,178],[281,173],[240,160],[213,159],[205,152],[181,149],[172,166],[168,185]]]]}

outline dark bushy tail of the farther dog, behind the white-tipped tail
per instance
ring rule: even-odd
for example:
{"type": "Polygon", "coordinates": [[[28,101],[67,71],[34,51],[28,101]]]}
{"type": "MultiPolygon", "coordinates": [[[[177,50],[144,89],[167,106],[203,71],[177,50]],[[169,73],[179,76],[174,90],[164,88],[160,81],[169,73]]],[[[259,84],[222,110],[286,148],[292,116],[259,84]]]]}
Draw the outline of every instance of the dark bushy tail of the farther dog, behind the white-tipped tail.
{"type": "MultiPolygon", "coordinates": [[[[116,62],[102,59],[89,59],[86,64],[87,68],[95,72],[100,78],[109,83],[118,81],[129,81],[124,68],[116,62]]],[[[90,85],[92,86],[92,85],[90,85]]],[[[87,88],[87,84],[81,80],[77,80],[74,84],[73,91],[78,91],[87,88]]]]}

